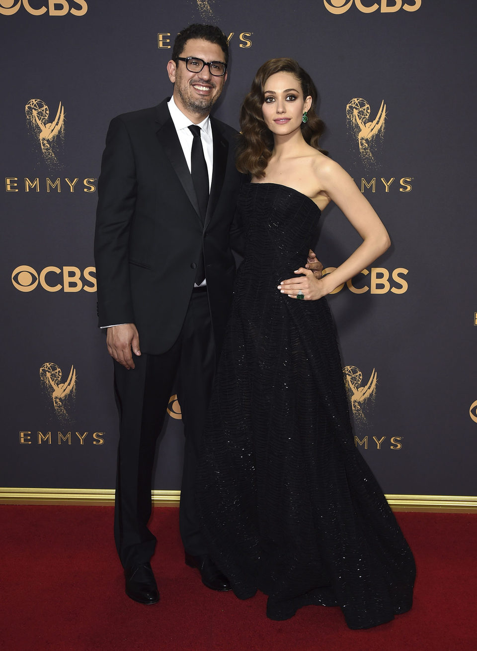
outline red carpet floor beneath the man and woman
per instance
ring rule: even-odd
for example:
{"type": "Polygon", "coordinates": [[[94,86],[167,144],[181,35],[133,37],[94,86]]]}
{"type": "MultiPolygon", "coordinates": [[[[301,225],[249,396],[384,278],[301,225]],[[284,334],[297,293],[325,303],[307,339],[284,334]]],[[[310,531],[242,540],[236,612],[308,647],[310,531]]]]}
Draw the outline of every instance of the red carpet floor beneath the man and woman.
{"type": "Polygon", "coordinates": [[[6,651],[394,651],[477,649],[477,515],[400,513],[415,553],[415,606],[350,631],[337,608],[308,606],[286,622],[203,587],[187,568],[178,510],[156,508],[152,565],[161,602],[129,600],[109,506],[0,506],[0,646],[6,651]]]}

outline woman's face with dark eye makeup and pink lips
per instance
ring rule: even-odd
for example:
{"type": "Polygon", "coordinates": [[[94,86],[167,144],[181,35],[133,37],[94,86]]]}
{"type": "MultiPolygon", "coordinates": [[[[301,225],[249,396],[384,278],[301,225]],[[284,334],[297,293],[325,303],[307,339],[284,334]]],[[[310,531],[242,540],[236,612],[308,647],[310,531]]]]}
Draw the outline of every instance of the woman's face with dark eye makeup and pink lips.
{"type": "Polygon", "coordinates": [[[277,72],[265,82],[263,119],[276,135],[289,135],[300,128],[305,111],[311,106],[311,97],[303,97],[300,82],[291,72],[277,72]]]}

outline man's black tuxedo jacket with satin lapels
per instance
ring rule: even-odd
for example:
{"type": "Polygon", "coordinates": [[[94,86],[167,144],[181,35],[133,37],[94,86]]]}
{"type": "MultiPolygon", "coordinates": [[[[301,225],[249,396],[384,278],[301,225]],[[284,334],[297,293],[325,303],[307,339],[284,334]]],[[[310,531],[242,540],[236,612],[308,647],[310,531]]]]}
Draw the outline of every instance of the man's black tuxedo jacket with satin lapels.
{"type": "Polygon", "coordinates": [[[246,178],[235,169],[235,130],[211,117],[213,176],[205,224],[164,100],[109,126],[98,180],[95,260],[99,326],[134,323],[142,352],[177,339],[201,249],[216,346],[232,296],[241,229],[234,221],[246,178]]]}

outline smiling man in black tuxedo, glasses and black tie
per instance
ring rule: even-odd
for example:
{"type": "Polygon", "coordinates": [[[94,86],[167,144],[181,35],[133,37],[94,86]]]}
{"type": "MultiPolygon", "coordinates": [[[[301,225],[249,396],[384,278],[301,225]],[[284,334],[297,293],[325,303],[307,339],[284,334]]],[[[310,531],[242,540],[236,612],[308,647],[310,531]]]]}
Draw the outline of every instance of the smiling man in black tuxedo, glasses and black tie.
{"type": "Polygon", "coordinates": [[[186,563],[230,585],[207,556],[194,509],[201,430],[226,326],[240,228],[235,131],[209,117],[227,79],[226,36],[190,25],[167,70],[172,98],[110,123],[98,182],[99,326],[107,327],[120,413],[114,535],[126,594],[159,601],[148,529],[155,445],[177,381],[185,427],[179,521],[186,563]],[[205,280],[206,279],[206,280],[205,280]],[[176,378],[177,376],[177,378],[176,378]]]}

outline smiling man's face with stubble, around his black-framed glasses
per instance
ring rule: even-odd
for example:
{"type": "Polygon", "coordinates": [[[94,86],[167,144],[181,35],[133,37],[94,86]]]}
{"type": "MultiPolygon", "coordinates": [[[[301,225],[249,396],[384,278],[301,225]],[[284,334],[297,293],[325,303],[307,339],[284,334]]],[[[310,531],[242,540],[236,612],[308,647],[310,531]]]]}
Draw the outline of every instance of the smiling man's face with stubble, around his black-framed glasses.
{"type": "MultiPolygon", "coordinates": [[[[225,62],[222,48],[201,38],[188,40],[181,57],[225,62]]],[[[227,73],[222,77],[211,75],[209,66],[203,66],[200,72],[190,72],[185,61],[177,61],[177,65],[174,61],[169,61],[167,71],[169,79],[174,83],[175,103],[190,119],[203,119],[210,113],[227,79],[227,73]]]]}

